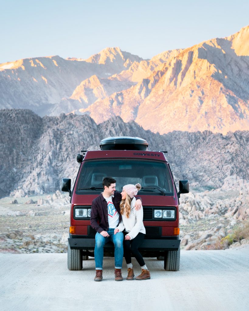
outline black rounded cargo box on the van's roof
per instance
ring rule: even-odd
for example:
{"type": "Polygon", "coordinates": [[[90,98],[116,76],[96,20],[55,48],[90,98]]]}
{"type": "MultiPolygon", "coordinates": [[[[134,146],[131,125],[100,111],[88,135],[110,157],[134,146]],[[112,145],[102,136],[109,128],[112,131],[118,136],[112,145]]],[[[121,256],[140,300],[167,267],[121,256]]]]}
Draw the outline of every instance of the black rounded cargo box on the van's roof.
{"type": "Polygon", "coordinates": [[[139,137],[107,137],[99,144],[101,150],[142,150],[148,147],[148,142],[139,137]]]}

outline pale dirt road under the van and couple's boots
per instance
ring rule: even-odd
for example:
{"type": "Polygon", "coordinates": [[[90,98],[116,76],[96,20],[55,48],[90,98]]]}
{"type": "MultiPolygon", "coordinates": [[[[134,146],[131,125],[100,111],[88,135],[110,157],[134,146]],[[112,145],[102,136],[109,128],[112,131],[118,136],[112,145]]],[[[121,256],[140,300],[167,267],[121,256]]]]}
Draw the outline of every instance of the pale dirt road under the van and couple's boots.
{"type": "Polygon", "coordinates": [[[114,259],[104,258],[103,281],[94,282],[94,258],[68,271],[65,253],[1,253],[1,310],[249,310],[249,246],[182,251],[178,272],[156,258],[146,264],[150,280],[115,282],[114,259]]]}

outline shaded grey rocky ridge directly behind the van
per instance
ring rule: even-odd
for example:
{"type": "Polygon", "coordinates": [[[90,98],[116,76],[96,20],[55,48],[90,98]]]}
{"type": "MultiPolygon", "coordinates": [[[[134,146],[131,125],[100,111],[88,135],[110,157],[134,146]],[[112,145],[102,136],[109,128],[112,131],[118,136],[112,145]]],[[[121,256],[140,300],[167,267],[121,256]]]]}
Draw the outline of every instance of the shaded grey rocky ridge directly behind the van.
{"type": "Polygon", "coordinates": [[[231,176],[249,179],[249,131],[160,135],[134,121],[125,123],[119,116],[97,124],[87,114],[41,118],[31,110],[2,109],[0,197],[52,193],[60,189],[63,177],[73,182],[79,167],[77,154],[100,149],[101,139],[109,136],[138,136],[148,141],[149,150],[168,151],[176,183],[189,179],[192,191],[221,188],[231,176]]]}

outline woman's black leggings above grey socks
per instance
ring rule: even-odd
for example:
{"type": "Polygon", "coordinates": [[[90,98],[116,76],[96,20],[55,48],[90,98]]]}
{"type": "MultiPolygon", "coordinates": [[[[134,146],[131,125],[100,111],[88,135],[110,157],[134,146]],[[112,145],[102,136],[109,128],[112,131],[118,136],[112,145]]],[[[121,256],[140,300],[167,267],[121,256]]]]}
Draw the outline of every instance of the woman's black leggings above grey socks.
{"type": "MultiPolygon", "coordinates": [[[[127,232],[124,232],[124,235],[126,234],[127,232]]],[[[131,253],[132,253],[133,256],[137,259],[137,262],[139,263],[140,267],[143,267],[145,265],[143,257],[138,251],[139,245],[143,242],[144,235],[145,234],[139,232],[139,234],[134,239],[124,240],[124,243],[123,243],[124,256],[125,256],[125,261],[127,264],[131,263],[131,253]]]]}

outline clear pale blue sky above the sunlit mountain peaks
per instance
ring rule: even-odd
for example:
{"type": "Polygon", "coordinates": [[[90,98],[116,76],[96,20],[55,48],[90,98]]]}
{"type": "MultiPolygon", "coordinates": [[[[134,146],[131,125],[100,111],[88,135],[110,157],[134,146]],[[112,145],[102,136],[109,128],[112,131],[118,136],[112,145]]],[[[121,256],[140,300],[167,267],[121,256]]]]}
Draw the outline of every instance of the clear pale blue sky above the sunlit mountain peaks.
{"type": "Polygon", "coordinates": [[[249,24],[249,1],[0,0],[0,63],[106,47],[151,58],[249,24]]]}

